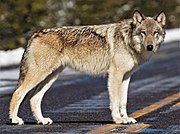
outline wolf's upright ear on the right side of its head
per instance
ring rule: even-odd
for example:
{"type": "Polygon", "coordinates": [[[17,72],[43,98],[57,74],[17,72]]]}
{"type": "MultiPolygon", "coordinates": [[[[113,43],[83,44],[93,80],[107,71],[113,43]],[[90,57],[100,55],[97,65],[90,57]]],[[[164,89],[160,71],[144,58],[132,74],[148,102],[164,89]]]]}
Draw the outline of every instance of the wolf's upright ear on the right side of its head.
{"type": "Polygon", "coordinates": [[[154,19],[162,26],[164,27],[166,25],[166,15],[163,11],[158,13],[154,19]]]}

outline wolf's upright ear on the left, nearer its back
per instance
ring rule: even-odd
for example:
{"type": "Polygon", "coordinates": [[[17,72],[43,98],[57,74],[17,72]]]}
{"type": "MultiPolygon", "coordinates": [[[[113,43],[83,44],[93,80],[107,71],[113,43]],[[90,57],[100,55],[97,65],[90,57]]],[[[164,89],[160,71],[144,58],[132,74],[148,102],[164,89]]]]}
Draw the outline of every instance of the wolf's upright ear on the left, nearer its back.
{"type": "Polygon", "coordinates": [[[135,10],[133,13],[133,24],[140,24],[145,19],[145,16],[140,13],[138,10],[135,10]]]}

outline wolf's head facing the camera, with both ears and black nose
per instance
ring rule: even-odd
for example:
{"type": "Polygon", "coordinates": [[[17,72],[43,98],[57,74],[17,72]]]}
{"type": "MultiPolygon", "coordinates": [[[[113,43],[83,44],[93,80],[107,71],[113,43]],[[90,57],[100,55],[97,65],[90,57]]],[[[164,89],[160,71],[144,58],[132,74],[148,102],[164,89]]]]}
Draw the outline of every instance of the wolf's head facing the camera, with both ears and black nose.
{"type": "MultiPolygon", "coordinates": [[[[166,16],[164,12],[160,12],[155,17],[145,17],[136,10],[133,14],[132,25],[134,45],[141,44],[144,50],[156,52],[165,37],[166,16]]],[[[140,46],[134,47],[138,49],[140,46]]]]}

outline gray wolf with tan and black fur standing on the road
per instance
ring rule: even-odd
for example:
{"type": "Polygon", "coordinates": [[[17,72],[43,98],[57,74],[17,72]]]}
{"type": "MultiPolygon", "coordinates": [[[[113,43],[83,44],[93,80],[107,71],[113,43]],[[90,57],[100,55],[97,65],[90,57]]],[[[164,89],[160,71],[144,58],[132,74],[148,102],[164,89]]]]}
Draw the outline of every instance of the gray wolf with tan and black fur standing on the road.
{"type": "Polygon", "coordinates": [[[67,26],[35,33],[25,49],[17,88],[10,103],[9,118],[17,116],[26,94],[34,89],[30,105],[38,123],[51,124],[44,118],[41,101],[45,92],[65,67],[91,74],[108,75],[112,119],[115,123],[135,123],[128,117],[126,104],[130,77],[139,65],[157,51],[165,38],[166,17],[160,12],[145,17],[135,11],[131,19],[92,26],[67,26]]]}

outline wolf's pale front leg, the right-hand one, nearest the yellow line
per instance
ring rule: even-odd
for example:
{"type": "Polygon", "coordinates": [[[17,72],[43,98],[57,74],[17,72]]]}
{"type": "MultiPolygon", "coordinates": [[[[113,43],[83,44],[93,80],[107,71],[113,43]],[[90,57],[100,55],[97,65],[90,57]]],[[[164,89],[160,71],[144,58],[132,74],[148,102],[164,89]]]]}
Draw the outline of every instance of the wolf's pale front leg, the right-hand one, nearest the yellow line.
{"type": "Polygon", "coordinates": [[[128,117],[127,115],[126,105],[127,105],[129,82],[130,82],[130,77],[127,79],[124,79],[122,82],[119,110],[120,110],[121,117],[125,119],[124,123],[136,123],[137,121],[134,118],[128,117]]]}

